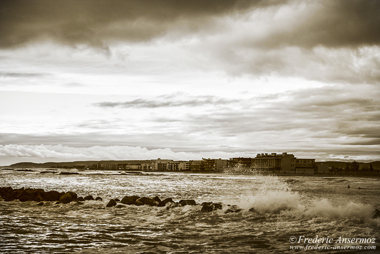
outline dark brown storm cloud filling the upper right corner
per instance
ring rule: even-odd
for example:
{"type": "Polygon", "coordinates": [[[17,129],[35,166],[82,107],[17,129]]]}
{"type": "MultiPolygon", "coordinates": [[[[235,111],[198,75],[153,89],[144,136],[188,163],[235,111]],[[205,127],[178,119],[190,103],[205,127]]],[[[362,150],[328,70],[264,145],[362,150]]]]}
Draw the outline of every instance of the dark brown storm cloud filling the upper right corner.
{"type": "MultiPolygon", "coordinates": [[[[303,4],[305,2],[301,2],[303,4]]],[[[276,30],[262,46],[342,47],[380,43],[380,1],[309,1],[293,29],[276,30]]]]}

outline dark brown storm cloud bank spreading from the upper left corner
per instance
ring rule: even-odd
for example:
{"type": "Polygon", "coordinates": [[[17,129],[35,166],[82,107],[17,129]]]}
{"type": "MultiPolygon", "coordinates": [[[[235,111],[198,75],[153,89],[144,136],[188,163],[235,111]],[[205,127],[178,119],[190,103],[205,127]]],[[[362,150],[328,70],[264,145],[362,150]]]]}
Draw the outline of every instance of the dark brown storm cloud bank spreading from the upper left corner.
{"type": "Polygon", "coordinates": [[[0,46],[53,39],[105,46],[146,41],[177,25],[197,31],[209,17],[276,4],[249,0],[6,0],[1,1],[0,46]]]}

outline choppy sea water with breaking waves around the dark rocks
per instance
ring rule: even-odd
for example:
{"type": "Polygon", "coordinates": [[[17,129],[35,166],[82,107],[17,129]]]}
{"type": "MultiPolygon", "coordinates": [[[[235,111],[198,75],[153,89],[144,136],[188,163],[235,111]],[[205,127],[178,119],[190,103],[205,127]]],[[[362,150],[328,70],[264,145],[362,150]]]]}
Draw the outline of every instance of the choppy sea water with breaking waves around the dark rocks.
{"type": "Polygon", "coordinates": [[[380,218],[372,218],[380,210],[378,178],[34,170],[0,169],[0,186],[74,191],[103,202],[0,201],[0,253],[294,253],[292,236],[375,238],[366,245],[380,250],[380,218]],[[134,194],[223,202],[243,211],[105,207],[111,198],[134,194]]]}

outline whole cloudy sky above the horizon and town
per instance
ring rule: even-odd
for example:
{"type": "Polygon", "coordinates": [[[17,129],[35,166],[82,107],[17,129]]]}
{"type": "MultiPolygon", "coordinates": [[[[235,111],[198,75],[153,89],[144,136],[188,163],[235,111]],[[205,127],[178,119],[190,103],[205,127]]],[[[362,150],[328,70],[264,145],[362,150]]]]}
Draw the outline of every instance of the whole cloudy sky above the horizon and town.
{"type": "Polygon", "coordinates": [[[0,166],[380,160],[378,0],[2,0],[0,166]]]}

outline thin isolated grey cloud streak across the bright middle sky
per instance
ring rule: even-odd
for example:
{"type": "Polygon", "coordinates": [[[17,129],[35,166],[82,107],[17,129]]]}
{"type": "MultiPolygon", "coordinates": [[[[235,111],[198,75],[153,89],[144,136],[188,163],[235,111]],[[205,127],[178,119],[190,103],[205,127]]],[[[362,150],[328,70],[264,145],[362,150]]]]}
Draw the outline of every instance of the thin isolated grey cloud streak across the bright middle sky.
{"type": "Polygon", "coordinates": [[[227,105],[240,102],[238,99],[221,99],[214,96],[199,96],[191,99],[174,99],[173,97],[160,96],[155,99],[138,98],[124,102],[99,102],[92,105],[105,108],[164,108],[164,107],[198,107],[204,105],[227,105]]]}

